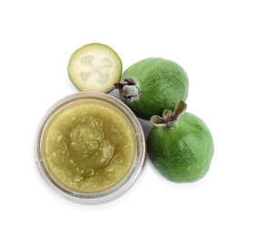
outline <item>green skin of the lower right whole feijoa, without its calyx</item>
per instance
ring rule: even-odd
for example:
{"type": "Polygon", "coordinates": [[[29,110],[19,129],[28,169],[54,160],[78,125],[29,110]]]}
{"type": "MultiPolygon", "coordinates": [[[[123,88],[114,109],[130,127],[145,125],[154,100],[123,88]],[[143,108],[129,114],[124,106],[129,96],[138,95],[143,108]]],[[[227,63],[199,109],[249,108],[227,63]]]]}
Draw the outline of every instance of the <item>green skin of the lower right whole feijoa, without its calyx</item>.
{"type": "Polygon", "coordinates": [[[192,113],[183,113],[172,128],[153,127],[147,149],[156,169],[172,182],[201,179],[210,168],[214,152],[211,132],[192,113]]]}

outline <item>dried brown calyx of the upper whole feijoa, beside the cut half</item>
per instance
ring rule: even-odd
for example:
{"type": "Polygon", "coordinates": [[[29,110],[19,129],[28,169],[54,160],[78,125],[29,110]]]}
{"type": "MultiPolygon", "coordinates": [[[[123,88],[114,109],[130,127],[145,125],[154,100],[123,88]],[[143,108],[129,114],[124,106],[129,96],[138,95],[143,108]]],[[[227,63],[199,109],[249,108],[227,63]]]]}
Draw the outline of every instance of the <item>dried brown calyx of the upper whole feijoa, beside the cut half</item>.
{"type": "Polygon", "coordinates": [[[115,83],[114,88],[119,90],[122,99],[125,102],[133,102],[139,98],[140,90],[136,86],[135,81],[132,78],[126,78],[123,80],[124,83],[115,83]]]}

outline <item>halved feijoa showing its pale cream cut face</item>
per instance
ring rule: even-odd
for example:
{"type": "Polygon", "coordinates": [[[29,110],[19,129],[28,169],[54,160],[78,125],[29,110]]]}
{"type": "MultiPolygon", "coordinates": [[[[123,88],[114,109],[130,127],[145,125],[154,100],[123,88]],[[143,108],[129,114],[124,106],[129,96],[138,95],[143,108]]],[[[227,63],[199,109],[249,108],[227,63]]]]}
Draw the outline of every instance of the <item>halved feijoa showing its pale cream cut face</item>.
{"type": "Polygon", "coordinates": [[[105,44],[86,44],[71,55],[68,74],[79,91],[108,93],[122,75],[122,61],[105,44]]]}

